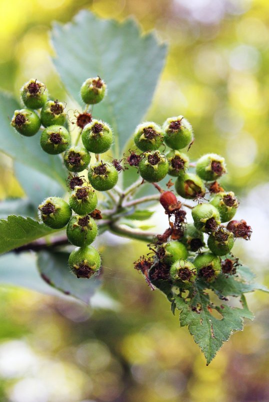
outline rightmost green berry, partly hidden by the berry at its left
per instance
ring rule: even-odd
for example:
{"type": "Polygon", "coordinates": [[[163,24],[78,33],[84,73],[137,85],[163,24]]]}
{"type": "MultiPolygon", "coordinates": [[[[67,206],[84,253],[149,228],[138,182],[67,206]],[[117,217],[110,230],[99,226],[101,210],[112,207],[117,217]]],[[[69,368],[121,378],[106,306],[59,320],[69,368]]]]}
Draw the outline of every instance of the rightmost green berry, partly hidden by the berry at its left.
{"type": "Polygon", "coordinates": [[[210,204],[218,210],[221,222],[228,222],[232,219],[239,205],[238,200],[232,191],[217,193],[210,200],[210,204]]]}

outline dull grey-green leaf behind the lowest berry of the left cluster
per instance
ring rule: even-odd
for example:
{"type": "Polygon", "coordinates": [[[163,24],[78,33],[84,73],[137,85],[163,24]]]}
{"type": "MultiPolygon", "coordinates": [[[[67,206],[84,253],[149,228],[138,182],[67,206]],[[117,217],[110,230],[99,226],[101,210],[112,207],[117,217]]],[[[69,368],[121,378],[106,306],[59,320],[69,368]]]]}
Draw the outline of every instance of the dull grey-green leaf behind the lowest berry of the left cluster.
{"type": "Polygon", "coordinates": [[[90,298],[100,286],[97,277],[76,278],[68,268],[68,253],[38,253],[37,265],[42,278],[66,295],[71,295],[89,304],[90,298]]]}

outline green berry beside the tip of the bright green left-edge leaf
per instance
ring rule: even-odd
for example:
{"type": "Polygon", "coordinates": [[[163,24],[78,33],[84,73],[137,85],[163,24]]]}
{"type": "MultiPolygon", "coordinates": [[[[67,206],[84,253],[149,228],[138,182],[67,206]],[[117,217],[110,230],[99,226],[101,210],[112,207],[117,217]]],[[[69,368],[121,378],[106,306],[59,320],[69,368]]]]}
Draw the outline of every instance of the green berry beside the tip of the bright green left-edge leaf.
{"type": "Polygon", "coordinates": [[[52,229],[61,229],[69,222],[72,211],[60,197],[48,197],[38,206],[41,220],[52,229]]]}

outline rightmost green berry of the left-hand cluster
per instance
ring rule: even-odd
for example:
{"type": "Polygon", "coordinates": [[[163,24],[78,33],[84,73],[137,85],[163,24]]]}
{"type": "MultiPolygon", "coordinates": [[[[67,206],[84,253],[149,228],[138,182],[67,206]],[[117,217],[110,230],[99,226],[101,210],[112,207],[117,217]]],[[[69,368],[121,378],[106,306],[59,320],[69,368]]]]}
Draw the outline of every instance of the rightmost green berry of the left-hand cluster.
{"type": "Polygon", "coordinates": [[[114,187],[118,179],[118,173],[114,166],[109,166],[102,161],[90,165],[88,179],[95,190],[107,191],[114,187]]]}

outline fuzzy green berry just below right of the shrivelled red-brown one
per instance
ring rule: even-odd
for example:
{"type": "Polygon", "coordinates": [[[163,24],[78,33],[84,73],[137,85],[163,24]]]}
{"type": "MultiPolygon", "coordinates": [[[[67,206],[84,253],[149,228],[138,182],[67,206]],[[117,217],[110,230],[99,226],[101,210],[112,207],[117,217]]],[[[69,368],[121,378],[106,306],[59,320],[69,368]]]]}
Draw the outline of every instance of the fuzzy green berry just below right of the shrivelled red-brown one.
{"type": "Polygon", "coordinates": [[[81,139],[89,152],[103,153],[108,151],[112,145],[113,133],[108,124],[92,120],[84,126],[81,139]]]}

